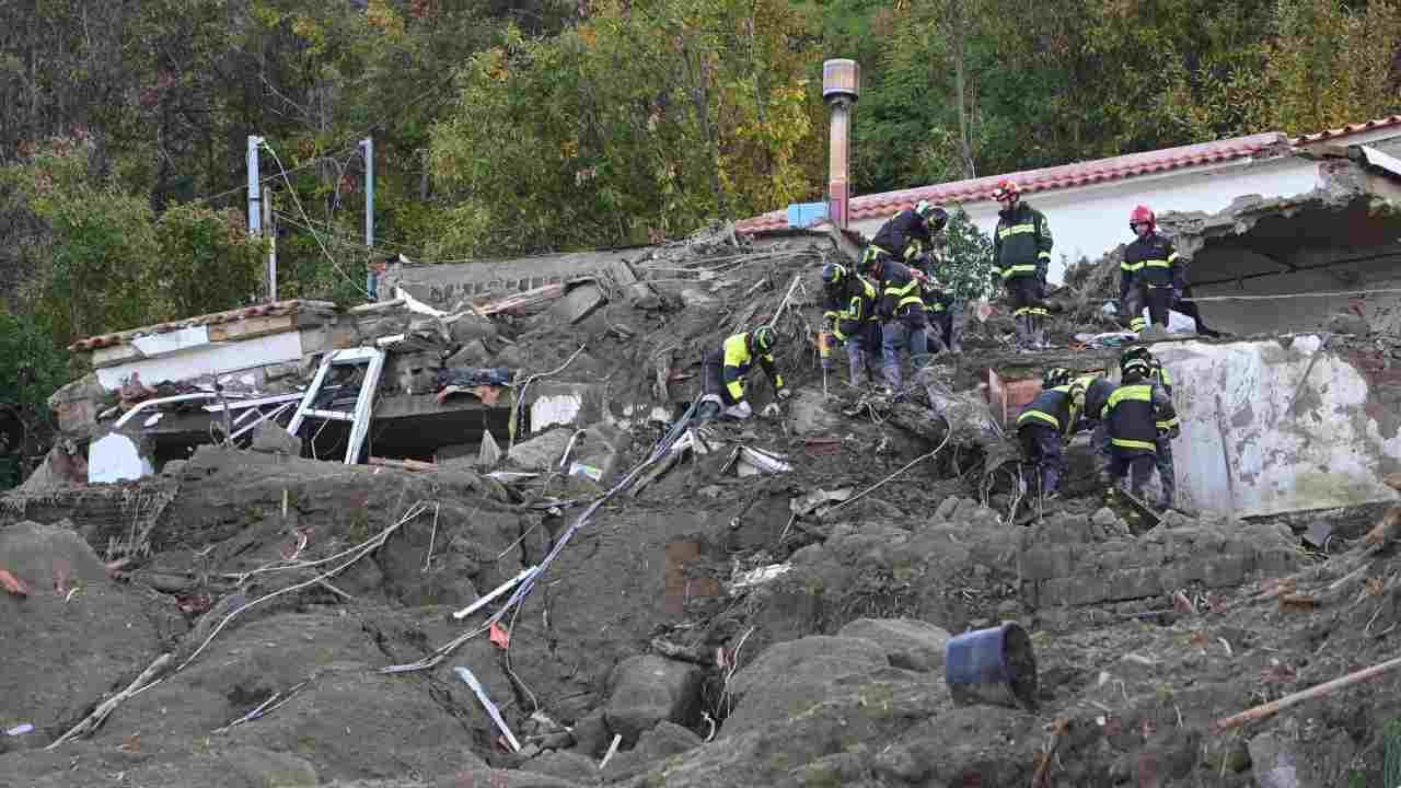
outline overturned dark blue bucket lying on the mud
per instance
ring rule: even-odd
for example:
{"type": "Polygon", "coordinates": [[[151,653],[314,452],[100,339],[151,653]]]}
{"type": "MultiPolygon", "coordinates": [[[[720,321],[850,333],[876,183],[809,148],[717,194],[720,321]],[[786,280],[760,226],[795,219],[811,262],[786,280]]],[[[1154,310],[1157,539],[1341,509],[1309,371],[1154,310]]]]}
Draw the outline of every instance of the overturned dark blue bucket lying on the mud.
{"type": "Polygon", "coordinates": [[[944,644],[944,683],[958,705],[1035,709],[1037,655],[1014,621],[975,630],[944,644]]]}

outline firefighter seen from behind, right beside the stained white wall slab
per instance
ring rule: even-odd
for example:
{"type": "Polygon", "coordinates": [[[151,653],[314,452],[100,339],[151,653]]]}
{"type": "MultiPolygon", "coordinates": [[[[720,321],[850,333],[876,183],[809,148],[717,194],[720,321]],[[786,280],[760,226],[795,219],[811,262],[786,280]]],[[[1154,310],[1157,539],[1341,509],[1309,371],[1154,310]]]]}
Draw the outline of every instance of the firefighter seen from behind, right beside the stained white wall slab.
{"type": "Polygon", "coordinates": [[[1173,400],[1150,377],[1149,363],[1140,358],[1121,359],[1122,384],[1104,402],[1101,418],[1110,436],[1108,478],[1112,496],[1115,485],[1129,477],[1135,496],[1153,475],[1157,451],[1157,422],[1177,416],[1173,400]]]}

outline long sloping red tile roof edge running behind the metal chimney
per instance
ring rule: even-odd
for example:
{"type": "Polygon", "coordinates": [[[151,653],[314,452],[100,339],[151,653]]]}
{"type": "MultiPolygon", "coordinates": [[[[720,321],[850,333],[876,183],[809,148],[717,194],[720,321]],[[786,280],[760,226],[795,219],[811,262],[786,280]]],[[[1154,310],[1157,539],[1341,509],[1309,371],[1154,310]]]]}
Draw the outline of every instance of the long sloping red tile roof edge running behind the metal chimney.
{"type": "MultiPolygon", "coordinates": [[[[1288,139],[1278,132],[1233,137],[1226,140],[1205,142],[1199,144],[1185,144],[1181,147],[1164,147],[1147,153],[1131,153],[1114,156],[1094,161],[1077,161],[1059,167],[1044,167],[1041,170],[1027,170],[1023,172],[1007,172],[989,175],[986,178],[972,178],[968,181],[954,181],[898,192],[883,192],[877,195],[863,195],[852,198],[849,216],[852,220],[890,216],[898,210],[913,208],[922,199],[934,203],[978,202],[992,199],[992,189],[998,181],[1010,178],[1021,186],[1023,193],[1065,189],[1083,186],[1105,181],[1180,170],[1198,164],[1229,161],[1245,158],[1274,146],[1283,146],[1288,139]]],[[[773,230],[787,227],[786,210],[771,210],[752,219],[736,223],[736,230],[754,233],[759,230],[773,230]]]]}

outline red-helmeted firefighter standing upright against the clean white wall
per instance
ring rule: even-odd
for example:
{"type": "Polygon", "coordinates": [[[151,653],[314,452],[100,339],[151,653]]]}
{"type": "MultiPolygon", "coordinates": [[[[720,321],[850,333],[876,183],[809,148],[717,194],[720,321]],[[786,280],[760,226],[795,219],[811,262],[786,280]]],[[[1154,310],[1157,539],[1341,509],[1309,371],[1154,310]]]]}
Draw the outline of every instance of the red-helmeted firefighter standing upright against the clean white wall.
{"type": "Polygon", "coordinates": [[[1002,181],[992,192],[1002,203],[992,237],[992,265],[998,282],[1007,290],[1017,346],[1047,348],[1045,286],[1051,266],[1051,224],[1040,210],[1021,202],[1014,181],[1002,181]]]}

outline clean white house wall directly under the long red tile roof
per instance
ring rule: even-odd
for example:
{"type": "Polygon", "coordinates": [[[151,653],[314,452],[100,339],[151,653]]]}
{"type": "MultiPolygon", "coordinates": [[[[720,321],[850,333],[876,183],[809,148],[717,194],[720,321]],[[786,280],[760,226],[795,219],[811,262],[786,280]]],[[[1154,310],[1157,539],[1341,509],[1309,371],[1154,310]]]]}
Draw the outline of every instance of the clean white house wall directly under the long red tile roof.
{"type": "MultiPolygon", "coordinates": [[[[1026,199],[1045,213],[1051,223],[1055,248],[1051,252],[1049,279],[1061,282],[1066,262],[1073,264],[1082,257],[1096,259],[1133,240],[1129,233],[1129,212],[1136,205],[1146,203],[1157,213],[1216,213],[1241,195],[1292,196],[1317,186],[1318,164],[1290,156],[1138,175],[1101,185],[1028,193],[1026,199]]],[[[992,201],[962,205],[968,216],[989,236],[998,226],[998,208],[992,201]]],[[[853,222],[852,229],[871,237],[888,219],[863,219],[853,222]]]]}

